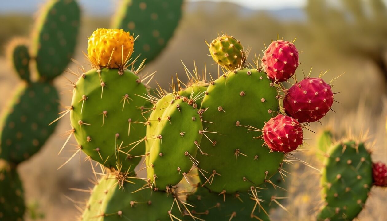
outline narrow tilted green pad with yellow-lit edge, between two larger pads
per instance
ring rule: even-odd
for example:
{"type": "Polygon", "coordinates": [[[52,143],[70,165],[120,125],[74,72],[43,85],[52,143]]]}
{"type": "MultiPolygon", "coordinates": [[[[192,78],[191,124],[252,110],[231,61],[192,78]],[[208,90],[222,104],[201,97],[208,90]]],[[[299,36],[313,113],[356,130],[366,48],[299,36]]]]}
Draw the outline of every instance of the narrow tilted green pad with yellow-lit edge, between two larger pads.
{"type": "MultiPolygon", "coordinates": [[[[166,96],[156,107],[166,104],[165,100],[170,98],[166,96]]],[[[147,140],[154,140],[146,143],[152,144],[147,147],[148,178],[159,190],[176,185],[190,171],[202,139],[202,122],[194,102],[178,97],[168,103],[162,115],[152,114],[154,118],[148,120],[147,140]],[[156,126],[151,127],[153,124],[156,126]]]]}

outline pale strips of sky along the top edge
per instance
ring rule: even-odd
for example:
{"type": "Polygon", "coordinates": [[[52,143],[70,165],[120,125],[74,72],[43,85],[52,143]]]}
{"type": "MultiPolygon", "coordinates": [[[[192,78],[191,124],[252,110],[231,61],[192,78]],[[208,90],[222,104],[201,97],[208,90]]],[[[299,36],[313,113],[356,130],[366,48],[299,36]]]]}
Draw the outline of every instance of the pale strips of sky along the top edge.
{"type": "MultiPolygon", "coordinates": [[[[0,14],[7,12],[33,13],[47,0],[0,0],[0,14]]],[[[87,14],[104,10],[111,14],[116,10],[120,0],[78,0],[87,14]],[[112,4],[112,2],[114,2],[112,4]]],[[[197,2],[200,0],[187,0],[197,2]]],[[[303,7],[307,0],[211,0],[214,2],[228,1],[242,5],[248,9],[274,10],[283,8],[303,7]]]]}

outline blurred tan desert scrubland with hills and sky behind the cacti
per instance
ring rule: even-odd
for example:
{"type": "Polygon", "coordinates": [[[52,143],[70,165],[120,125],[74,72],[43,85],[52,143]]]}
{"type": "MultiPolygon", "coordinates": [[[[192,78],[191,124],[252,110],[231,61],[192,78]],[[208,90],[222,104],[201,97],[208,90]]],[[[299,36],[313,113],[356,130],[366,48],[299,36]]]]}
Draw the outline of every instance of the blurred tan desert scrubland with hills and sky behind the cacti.
{"type": "MultiPolygon", "coordinates": [[[[0,7],[0,108],[13,96],[15,84],[19,83],[5,58],[5,46],[15,36],[31,33],[35,12],[45,0],[2,1],[0,7]]],[[[118,7],[118,0],[79,0],[82,6],[82,23],[75,60],[87,65],[82,51],[87,50],[87,36],[99,27],[109,27],[111,17],[118,7]]],[[[158,82],[169,88],[170,76],[176,73],[186,79],[182,60],[193,69],[193,62],[217,76],[217,66],[208,57],[205,41],[216,38],[218,33],[227,33],[241,41],[245,48],[251,48],[250,57],[262,55],[265,45],[271,40],[283,38],[293,40],[300,53],[301,65],[296,72],[298,79],[303,72],[318,76],[321,72],[325,81],[336,79],[335,99],[329,115],[319,123],[312,123],[311,130],[318,132],[330,125],[337,134],[351,130],[353,134],[369,129],[370,143],[373,143],[374,161],[387,162],[386,147],[386,94],[387,94],[387,1],[385,0],[229,0],[197,1],[187,0],[183,17],[174,37],[161,56],[148,63],[143,72],[157,74],[151,86],[158,82]]],[[[252,60],[249,60],[252,62],[252,60]]],[[[73,63],[70,69],[75,70],[73,63]]],[[[69,77],[70,74],[65,74],[69,77]]],[[[71,76],[74,77],[74,76],[71,76]]],[[[65,79],[58,77],[55,85],[60,91],[67,91],[65,79]]],[[[289,86],[289,85],[288,85],[289,86]]],[[[62,105],[68,105],[70,93],[61,95],[62,105]]],[[[71,146],[57,156],[65,142],[62,137],[69,130],[68,117],[60,120],[56,133],[45,147],[22,163],[18,171],[24,184],[26,200],[44,214],[40,220],[75,220],[79,214],[72,200],[86,202],[87,193],[69,188],[89,189],[93,184],[90,163],[84,162],[86,155],[79,154],[60,170],[57,168],[73,154],[71,146]],[[69,200],[68,198],[72,199],[69,200]]],[[[313,161],[310,147],[315,144],[312,132],[305,134],[309,140],[297,153],[297,157],[319,168],[313,161]]],[[[76,143],[70,140],[70,143],[76,143]]],[[[304,164],[295,164],[292,171],[289,200],[286,204],[292,215],[279,208],[273,213],[273,220],[312,220],[319,206],[320,196],[318,171],[304,164]],[[302,190],[302,191],[300,191],[302,190]]],[[[385,221],[387,212],[382,208],[387,202],[387,193],[374,189],[367,201],[366,210],[360,215],[362,221],[385,221]]]]}

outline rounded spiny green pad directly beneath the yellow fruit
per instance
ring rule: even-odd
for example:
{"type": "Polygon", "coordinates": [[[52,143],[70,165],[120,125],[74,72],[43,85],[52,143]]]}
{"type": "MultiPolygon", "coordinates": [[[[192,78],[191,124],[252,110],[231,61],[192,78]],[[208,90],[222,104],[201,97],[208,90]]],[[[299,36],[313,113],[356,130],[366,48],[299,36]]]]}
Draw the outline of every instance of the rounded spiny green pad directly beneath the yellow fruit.
{"type": "Polygon", "coordinates": [[[71,125],[87,155],[107,167],[134,170],[145,152],[142,109],[147,89],[130,70],[92,69],[79,77],[72,98],[71,125]]]}

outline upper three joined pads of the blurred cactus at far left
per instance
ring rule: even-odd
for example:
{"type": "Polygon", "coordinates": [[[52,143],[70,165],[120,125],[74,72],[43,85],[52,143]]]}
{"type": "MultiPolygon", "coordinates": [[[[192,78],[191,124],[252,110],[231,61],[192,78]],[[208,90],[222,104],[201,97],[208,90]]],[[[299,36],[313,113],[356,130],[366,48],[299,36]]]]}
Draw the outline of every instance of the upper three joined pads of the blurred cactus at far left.
{"type": "Polygon", "coordinates": [[[28,159],[54,132],[48,124],[57,117],[59,95],[52,80],[70,62],[75,50],[80,10],[74,0],[52,0],[41,9],[28,39],[15,39],[8,57],[22,80],[1,118],[0,158],[13,163],[28,159]],[[31,53],[31,55],[30,55],[31,53]],[[37,81],[31,74],[38,75],[37,81]]]}

